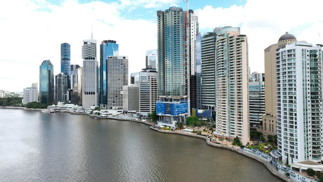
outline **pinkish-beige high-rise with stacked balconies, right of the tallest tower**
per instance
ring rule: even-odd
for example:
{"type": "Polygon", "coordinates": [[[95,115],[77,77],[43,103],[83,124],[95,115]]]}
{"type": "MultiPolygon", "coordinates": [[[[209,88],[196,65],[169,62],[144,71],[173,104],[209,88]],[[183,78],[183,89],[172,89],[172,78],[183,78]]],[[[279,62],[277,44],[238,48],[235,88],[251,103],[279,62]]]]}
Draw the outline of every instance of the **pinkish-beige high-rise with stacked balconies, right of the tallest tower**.
{"type": "MultiPolygon", "coordinates": [[[[248,44],[239,27],[218,27],[216,55],[216,133],[249,141],[248,44]]],[[[203,61],[202,61],[203,63],[203,61]]],[[[203,79],[202,79],[203,82],[203,79]]]]}

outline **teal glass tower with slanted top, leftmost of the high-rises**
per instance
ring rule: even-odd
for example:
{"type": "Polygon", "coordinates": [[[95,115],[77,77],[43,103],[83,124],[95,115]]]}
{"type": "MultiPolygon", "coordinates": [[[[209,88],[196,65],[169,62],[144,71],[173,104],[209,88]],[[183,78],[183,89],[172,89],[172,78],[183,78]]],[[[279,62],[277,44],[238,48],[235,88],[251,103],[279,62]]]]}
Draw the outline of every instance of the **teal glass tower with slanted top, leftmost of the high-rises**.
{"type": "Polygon", "coordinates": [[[39,102],[54,103],[54,66],[49,60],[39,66],[39,102]]]}

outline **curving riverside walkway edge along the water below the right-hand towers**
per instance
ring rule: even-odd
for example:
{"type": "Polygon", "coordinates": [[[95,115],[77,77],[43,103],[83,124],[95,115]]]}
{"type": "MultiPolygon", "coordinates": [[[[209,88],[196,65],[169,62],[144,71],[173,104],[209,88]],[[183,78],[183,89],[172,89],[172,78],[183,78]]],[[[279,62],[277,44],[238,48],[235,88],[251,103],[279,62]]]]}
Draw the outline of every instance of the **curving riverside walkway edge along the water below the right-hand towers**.
{"type": "Polygon", "coordinates": [[[213,143],[210,141],[210,138],[206,137],[206,136],[202,136],[202,135],[197,135],[196,133],[183,133],[183,132],[180,132],[178,130],[175,130],[175,131],[170,131],[170,130],[160,130],[160,129],[157,129],[157,128],[154,128],[153,126],[150,127],[150,129],[152,130],[155,130],[157,132],[160,132],[160,133],[170,133],[170,134],[177,134],[177,135],[183,135],[183,136],[189,136],[189,137],[195,137],[195,138],[200,138],[200,139],[204,139],[206,141],[206,144],[209,145],[209,146],[212,146],[212,147],[217,147],[217,148],[222,148],[222,149],[227,149],[227,150],[231,150],[231,151],[234,151],[234,152],[237,152],[243,156],[246,156],[246,157],[249,157],[253,160],[256,160],[258,161],[259,163],[263,164],[268,170],[269,172],[280,178],[281,180],[285,181],[285,182],[292,182],[290,179],[288,179],[285,175],[282,175],[280,173],[278,173],[278,171],[270,164],[270,163],[267,163],[266,161],[263,161],[259,158],[256,158],[255,156],[252,156],[250,154],[246,154],[244,153],[240,147],[235,147],[235,146],[227,146],[227,145],[222,145],[222,144],[217,144],[217,143],[213,143]]]}

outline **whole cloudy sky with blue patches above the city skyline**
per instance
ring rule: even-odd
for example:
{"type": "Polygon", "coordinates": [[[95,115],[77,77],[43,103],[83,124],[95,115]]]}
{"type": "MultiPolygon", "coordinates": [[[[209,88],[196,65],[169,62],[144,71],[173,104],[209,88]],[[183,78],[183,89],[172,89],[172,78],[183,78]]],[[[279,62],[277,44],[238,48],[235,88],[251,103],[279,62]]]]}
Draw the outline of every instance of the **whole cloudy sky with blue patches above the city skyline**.
{"type": "MultiPolygon", "coordinates": [[[[39,82],[43,60],[60,73],[60,45],[71,45],[71,64],[82,65],[82,40],[116,40],[128,56],[129,75],[145,68],[157,48],[157,10],[186,9],[183,0],[1,0],[0,90],[23,91],[39,82]]],[[[264,72],[263,50],[286,31],[323,44],[323,0],[190,0],[200,32],[240,26],[248,38],[251,72],[264,72]],[[321,36],[320,36],[321,35],[321,36]]],[[[99,47],[97,47],[99,60],[99,47]]]]}

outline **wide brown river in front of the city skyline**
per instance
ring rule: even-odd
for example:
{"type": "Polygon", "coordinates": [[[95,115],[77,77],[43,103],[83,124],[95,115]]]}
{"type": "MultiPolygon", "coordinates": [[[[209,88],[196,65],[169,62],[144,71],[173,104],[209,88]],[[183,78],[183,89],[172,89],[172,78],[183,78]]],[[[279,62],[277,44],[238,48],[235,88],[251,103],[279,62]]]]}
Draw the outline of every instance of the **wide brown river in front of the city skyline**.
{"type": "Polygon", "coordinates": [[[0,181],[281,182],[260,163],[127,121],[0,109],[0,181]]]}

